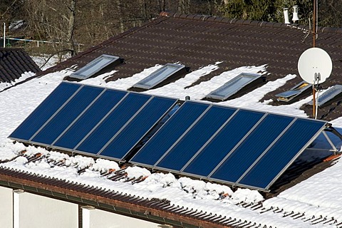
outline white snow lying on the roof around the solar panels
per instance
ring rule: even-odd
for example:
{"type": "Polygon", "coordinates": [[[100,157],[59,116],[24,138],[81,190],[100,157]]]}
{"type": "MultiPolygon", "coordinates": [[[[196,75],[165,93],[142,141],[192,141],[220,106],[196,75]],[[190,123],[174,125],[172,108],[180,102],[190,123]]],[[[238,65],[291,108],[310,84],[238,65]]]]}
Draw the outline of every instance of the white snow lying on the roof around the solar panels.
{"type": "MultiPolygon", "coordinates": [[[[130,78],[121,78],[118,81],[105,83],[105,78],[115,71],[90,78],[83,83],[106,86],[109,88],[127,89],[140,81],[145,76],[157,70],[161,66],[146,68],[141,73],[130,78]]],[[[201,76],[204,76],[219,67],[219,63],[213,63],[188,73],[175,83],[149,90],[147,93],[170,96],[184,99],[190,95],[193,100],[204,97],[210,91],[226,83],[239,73],[263,73],[266,74],[266,66],[246,66],[226,71],[210,81],[199,83],[196,86],[186,88],[201,76]],[[224,78],[220,80],[219,78],[224,78]]],[[[0,160],[10,159],[18,155],[21,150],[26,150],[26,155],[34,155],[41,152],[42,155],[55,161],[63,161],[64,166],[53,166],[46,159],[38,162],[27,162],[25,157],[17,157],[11,162],[1,164],[3,167],[10,167],[26,172],[35,172],[48,177],[57,177],[63,180],[83,183],[85,185],[102,187],[103,189],[119,191],[130,195],[148,198],[168,199],[171,204],[180,207],[188,207],[202,210],[212,214],[221,214],[222,217],[235,217],[264,224],[272,227],[312,227],[310,222],[301,219],[283,217],[283,214],[274,212],[259,213],[249,208],[237,205],[238,202],[257,203],[264,198],[255,190],[239,189],[235,192],[224,185],[212,184],[202,180],[192,180],[187,177],[175,178],[172,174],[153,173],[142,167],[128,167],[125,171],[130,177],[146,177],[142,182],[132,185],[130,182],[113,182],[100,175],[100,172],[107,170],[118,170],[118,164],[113,161],[76,155],[70,157],[60,152],[47,151],[41,147],[25,147],[19,142],[13,143],[7,136],[43,101],[51,91],[58,86],[65,76],[69,76],[73,70],[66,69],[57,73],[49,73],[41,78],[34,78],[24,84],[14,86],[9,90],[0,93],[0,160]],[[78,170],[85,168],[86,172],[78,174],[78,170]]],[[[259,103],[264,93],[275,90],[284,85],[286,81],[294,78],[294,75],[285,76],[276,81],[269,81],[261,88],[258,88],[247,95],[234,100],[222,102],[222,105],[233,105],[244,108],[257,108],[258,110],[283,113],[286,115],[298,115],[306,117],[299,107],[308,102],[306,98],[292,105],[271,106],[268,101],[259,103]]],[[[342,119],[341,119],[342,120],[342,119]]],[[[341,120],[334,120],[333,123],[341,126],[341,120]]],[[[341,185],[341,162],[324,170],[323,172],[310,177],[299,185],[291,187],[282,192],[278,197],[264,201],[264,207],[279,207],[286,212],[302,212],[308,214],[320,214],[322,216],[334,217],[342,222],[342,185],[341,185]],[[323,181],[322,181],[323,180],[323,181]],[[340,213],[339,213],[340,212],[340,213]]],[[[320,224],[319,226],[322,226],[320,224]]],[[[328,226],[327,224],[324,226],[328,226]]],[[[314,226],[315,227],[315,226],[314,226]]]]}

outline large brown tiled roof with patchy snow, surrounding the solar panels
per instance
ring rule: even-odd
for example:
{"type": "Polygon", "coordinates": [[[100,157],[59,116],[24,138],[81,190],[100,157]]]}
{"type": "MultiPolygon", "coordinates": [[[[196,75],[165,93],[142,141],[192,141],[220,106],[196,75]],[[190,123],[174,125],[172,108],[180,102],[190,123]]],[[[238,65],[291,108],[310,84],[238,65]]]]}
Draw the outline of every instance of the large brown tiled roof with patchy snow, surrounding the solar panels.
{"type": "MultiPolygon", "coordinates": [[[[318,42],[319,46],[326,45],[333,51],[333,59],[339,58],[336,41],[333,40],[340,38],[337,31],[340,30],[321,28],[322,42],[318,42]]],[[[44,181],[56,182],[56,185],[64,182],[79,191],[91,189],[98,194],[112,192],[112,195],[118,192],[121,198],[133,198],[128,200],[133,205],[141,203],[142,197],[160,199],[163,209],[170,209],[168,212],[179,217],[195,217],[197,222],[207,221],[221,227],[342,227],[339,160],[326,163],[334,165],[269,198],[255,190],[233,191],[225,185],[188,177],[178,178],[170,173],[150,172],[138,166],[119,167],[113,161],[68,155],[14,143],[7,138],[63,78],[103,53],[125,58],[126,64],[81,83],[127,90],[161,68],[162,64],[182,63],[190,66],[190,73],[143,93],[180,100],[190,96],[192,100],[201,100],[240,73],[261,73],[266,76],[266,83],[219,104],[308,118],[307,110],[304,112],[301,108],[309,103],[310,95],[288,105],[273,105],[271,96],[301,81],[296,76],[294,56],[299,56],[310,46],[308,39],[302,42],[302,36],[301,29],[284,24],[175,14],[162,15],[140,28],[110,38],[58,64],[40,78],[33,78],[0,93],[0,179],[10,180],[11,173],[13,178],[19,173],[23,177],[22,182],[36,180],[37,185],[44,181]]],[[[336,75],[340,68],[339,63],[334,65],[336,75]]],[[[334,76],[328,86],[336,81],[338,77],[334,76]]],[[[340,107],[335,103],[332,108],[318,112],[333,114],[328,117],[333,127],[340,130],[342,118],[338,110],[340,107]]],[[[338,138],[331,140],[338,149],[341,148],[338,138]]],[[[323,136],[312,145],[313,148],[330,149],[323,136]]],[[[330,154],[327,151],[313,153],[307,150],[300,158],[315,165],[317,158],[330,154]]],[[[20,178],[17,181],[20,182],[20,178]]],[[[76,193],[74,191],[73,194],[76,193]]],[[[157,208],[152,204],[145,209],[157,208]]]]}

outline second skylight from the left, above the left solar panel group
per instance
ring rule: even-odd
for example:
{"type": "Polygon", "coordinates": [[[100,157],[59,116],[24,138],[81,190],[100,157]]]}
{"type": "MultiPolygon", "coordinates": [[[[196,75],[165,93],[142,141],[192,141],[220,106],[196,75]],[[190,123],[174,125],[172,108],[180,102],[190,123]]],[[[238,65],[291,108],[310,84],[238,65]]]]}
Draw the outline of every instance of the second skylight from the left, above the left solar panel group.
{"type": "Polygon", "coordinates": [[[183,68],[185,68],[185,66],[181,64],[167,63],[159,68],[157,71],[152,72],[150,76],[147,76],[146,78],[136,83],[133,87],[148,90],[157,86],[162,81],[165,81],[167,78],[170,78],[170,76],[183,68]]]}

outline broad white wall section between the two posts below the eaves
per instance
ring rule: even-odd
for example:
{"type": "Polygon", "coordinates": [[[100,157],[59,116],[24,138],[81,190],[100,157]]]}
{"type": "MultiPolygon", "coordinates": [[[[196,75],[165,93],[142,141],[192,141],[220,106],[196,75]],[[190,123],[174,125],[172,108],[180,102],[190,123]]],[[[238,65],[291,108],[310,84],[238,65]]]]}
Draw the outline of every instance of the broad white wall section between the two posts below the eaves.
{"type": "Polygon", "coordinates": [[[78,227],[78,204],[24,192],[19,205],[20,228],[78,227]]]}

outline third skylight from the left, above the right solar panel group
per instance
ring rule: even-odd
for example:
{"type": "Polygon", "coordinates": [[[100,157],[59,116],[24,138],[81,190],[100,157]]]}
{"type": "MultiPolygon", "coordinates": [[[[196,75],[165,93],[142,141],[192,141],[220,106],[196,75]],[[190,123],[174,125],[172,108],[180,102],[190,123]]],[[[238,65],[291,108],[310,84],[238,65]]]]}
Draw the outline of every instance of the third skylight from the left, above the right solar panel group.
{"type": "Polygon", "coordinates": [[[231,81],[228,81],[223,86],[206,95],[206,98],[226,100],[258,78],[261,78],[261,75],[254,73],[240,73],[239,76],[233,78],[231,81]]]}

